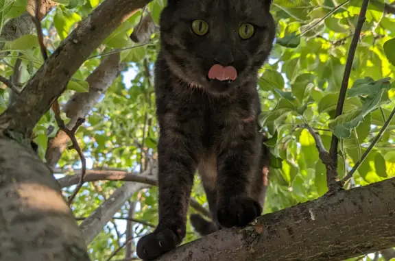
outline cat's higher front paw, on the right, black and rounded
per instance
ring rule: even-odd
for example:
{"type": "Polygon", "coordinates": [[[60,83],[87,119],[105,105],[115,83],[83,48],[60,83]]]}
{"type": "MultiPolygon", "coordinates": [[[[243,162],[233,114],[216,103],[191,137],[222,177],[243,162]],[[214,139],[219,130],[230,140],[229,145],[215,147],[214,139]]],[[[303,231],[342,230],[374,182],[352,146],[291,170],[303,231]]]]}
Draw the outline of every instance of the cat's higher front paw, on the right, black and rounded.
{"type": "Polygon", "coordinates": [[[218,206],[217,219],[222,227],[244,227],[262,213],[261,205],[250,197],[232,197],[218,206]]]}

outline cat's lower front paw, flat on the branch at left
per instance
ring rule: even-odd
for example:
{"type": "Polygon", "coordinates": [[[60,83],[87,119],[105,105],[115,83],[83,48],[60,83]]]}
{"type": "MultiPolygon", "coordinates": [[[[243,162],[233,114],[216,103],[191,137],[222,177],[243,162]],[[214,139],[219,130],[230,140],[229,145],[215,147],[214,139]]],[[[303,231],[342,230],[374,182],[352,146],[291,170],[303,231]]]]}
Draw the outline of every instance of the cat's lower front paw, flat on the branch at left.
{"type": "MultiPolygon", "coordinates": [[[[179,234],[182,234],[181,232],[179,234]]],[[[171,229],[160,229],[143,236],[137,243],[137,256],[142,260],[154,260],[180,244],[180,236],[171,229]]]]}

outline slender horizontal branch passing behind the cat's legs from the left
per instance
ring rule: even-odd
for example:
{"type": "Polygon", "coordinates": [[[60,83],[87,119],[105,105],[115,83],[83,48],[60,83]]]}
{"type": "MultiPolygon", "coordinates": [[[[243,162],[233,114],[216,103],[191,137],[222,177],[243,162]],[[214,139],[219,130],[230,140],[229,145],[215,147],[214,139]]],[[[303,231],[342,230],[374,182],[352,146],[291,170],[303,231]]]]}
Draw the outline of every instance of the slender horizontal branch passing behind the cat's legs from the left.
{"type": "MultiPolygon", "coordinates": [[[[144,172],[146,173],[146,171],[144,172]]],[[[78,184],[80,181],[81,173],[76,173],[75,175],[68,175],[66,177],[61,177],[58,182],[62,188],[73,186],[78,184]]],[[[104,170],[87,170],[84,178],[84,182],[97,182],[99,180],[122,180],[125,182],[139,182],[143,184],[148,184],[151,186],[158,186],[158,180],[156,175],[141,175],[135,173],[128,173],[127,171],[104,171],[104,170]]],[[[208,216],[211,218],[211,214],[206,208],[200,205],[195,199],[191,198],[191,207],[194,208],[200,214],[208,216]]],[[[109,220],[109,219],[108,219],[109,220]]]]}

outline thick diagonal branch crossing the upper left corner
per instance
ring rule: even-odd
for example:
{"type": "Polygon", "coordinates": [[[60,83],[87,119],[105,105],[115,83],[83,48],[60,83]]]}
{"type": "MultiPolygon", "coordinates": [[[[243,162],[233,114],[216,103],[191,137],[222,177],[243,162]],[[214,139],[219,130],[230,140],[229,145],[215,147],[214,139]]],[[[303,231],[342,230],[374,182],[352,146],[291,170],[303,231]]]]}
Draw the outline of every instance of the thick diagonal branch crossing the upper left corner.
{"type": "Polygon", "coordinates": [[[30,137],[88,55],[125,19],[149,0],[106,0],[82,21],[29,80],[18,99],[0,116],[0,130],[30,137]],[[23,123],[23,124],[21,124],[23,123]]]}

